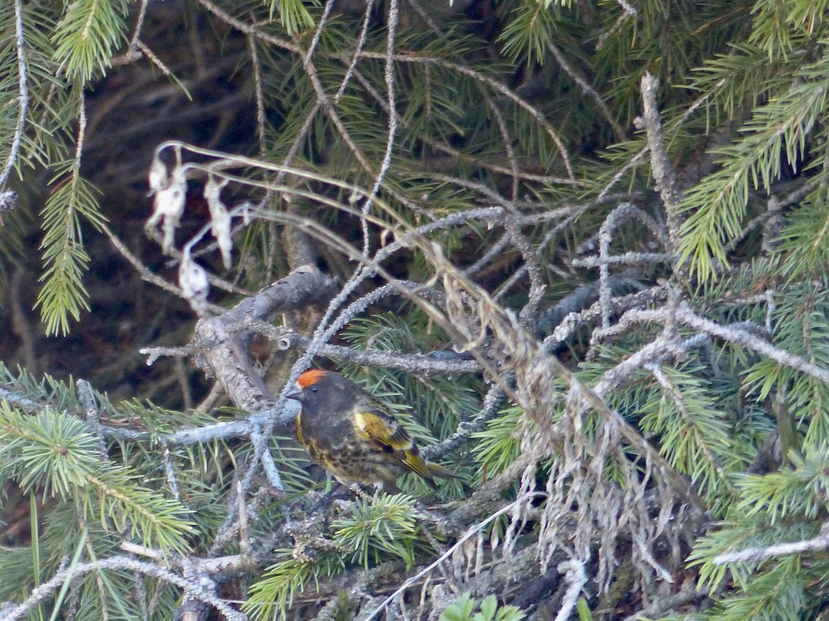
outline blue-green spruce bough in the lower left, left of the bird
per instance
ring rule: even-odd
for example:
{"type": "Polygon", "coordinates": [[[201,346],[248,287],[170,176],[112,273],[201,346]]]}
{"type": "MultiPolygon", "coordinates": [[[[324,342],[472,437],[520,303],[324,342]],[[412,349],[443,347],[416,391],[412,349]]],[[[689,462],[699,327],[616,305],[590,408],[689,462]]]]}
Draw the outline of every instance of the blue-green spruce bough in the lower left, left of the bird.
{"type": "MultiPolygon", "coordinates": [[[[222,472],[226,446],[171,447],[172,470],[186,504],[171,498],[150,433],[143,442],[104,441],[80,418],[85,407],[75,389],[49,376],[17,376],[0,364],[0,388],[0,484],[13,482],[31,492],[33,518],[32,546],[2,549],[0,599],[19,599],[50,578],[75,555],[83,537],[81,561],[122,554],[124,538],[172,555],[198,549],[206,533],[221,526],[225,508],[216,498],[230,493],[230,480],[216,481],[216,473],[222,472]]],[[[91,398],[106,422],[146,418],[156,421],[158,431],[212,421],[146,403],[114,407],[98,392],[91,398]]],[[[156,595],[151,618],[169,619],[180,591],[162,580],[142,580],[146,592],[156,595]]],[[[79,618],[135,619],[141,616],[138,602],[126,601],[124,594],[136,584],[128,572],[98,572],[73,582],[67,598],[84,602],[79,618]]]]}

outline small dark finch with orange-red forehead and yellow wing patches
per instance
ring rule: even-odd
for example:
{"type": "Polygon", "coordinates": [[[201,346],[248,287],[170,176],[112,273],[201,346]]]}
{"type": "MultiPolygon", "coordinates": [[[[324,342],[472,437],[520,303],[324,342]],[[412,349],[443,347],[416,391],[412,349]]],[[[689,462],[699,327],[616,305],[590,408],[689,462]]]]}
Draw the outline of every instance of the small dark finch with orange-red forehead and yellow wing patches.
{"type": "Polygon", "coordinates": [[[395,479],[407,471],[433,489],[436,476],[460,478],[424,460],[395,416],[340,373],[306,371],[287,397],[302,405],[297,440],[342,484],[371,484],[397,493],[395,479]]]}

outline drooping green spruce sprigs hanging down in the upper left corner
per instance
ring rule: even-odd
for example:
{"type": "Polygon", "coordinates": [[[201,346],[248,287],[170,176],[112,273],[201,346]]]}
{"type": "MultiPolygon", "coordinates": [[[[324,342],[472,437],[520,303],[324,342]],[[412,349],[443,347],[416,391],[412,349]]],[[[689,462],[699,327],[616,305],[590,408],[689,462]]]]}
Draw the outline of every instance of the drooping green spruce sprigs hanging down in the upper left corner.
{"type": "MultiPolygon", "coordinates": [[[[12,4],[4,2],[0,7],[0,63],[7,68],[0,71],[3,161],[17,126],[21,80],[14,46],[12,4]]],[[[67,3],[62,17],[41,2],[22,2],[22,5],[28,119],[38,120],[30,123],[31,132],[20,137],[20,153],[14,163],[21,176],[27,167],[54,166],[52,191],[41,214],[45,232],[42,246],[45,285],[38,304],[47,333],[65,334],[70,318],[77,320],[80,312],[88,309],[81,277],[89,257],[80,223],[86,220],[97,225],[101,221],[94,190],[78,170],[80,153],[75,158],[70,156],[71,142],[74,142],[70,138],[71,126],[77,118],[82,84],[90,79],[95,68],[109,64],[114,46],[124,39],[127,2],[71,2],[67,3]],[[73,88],[75,79],[78,86],[73,88]]]]}

